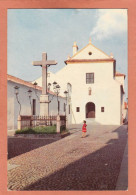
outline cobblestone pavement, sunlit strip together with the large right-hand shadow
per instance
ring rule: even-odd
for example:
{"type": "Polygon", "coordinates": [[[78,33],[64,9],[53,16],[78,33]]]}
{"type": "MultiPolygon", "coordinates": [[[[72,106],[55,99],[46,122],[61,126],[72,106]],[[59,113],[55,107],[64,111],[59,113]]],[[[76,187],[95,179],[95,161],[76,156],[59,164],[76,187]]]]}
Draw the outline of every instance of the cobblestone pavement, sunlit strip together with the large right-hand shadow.
{"type": "Polygon", "coordinates": [[[71,132],[8,160],[10,165],[19,165],[8,171],[8,189],[115,190],[127,126],[88,125],[86,138],[81,138],[79,129],[71,132]]]}

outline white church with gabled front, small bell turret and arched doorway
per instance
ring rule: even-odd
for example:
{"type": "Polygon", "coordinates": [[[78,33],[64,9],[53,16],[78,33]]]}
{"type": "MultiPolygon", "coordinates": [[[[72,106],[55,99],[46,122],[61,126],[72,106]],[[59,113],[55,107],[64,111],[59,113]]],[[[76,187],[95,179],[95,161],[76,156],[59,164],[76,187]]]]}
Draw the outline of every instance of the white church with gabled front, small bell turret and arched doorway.
{"type": "MultiPolygon", "coordinates": [[[[97,124],[120,125],[124,106],[125,75],[116,72],[116,60],[96,48],[91,41],[78,51],[73,45],[73,56],[56,74],[49,73],[48,83],[55,80],[61,86],[60,94],[69,92],[67,102],[68,124],[83,120],[97,124]]],[[[41,78],[37,79],[41,85],[41,78]]],[[[52,86],[51,86],[52,90],[52,86]]]]}

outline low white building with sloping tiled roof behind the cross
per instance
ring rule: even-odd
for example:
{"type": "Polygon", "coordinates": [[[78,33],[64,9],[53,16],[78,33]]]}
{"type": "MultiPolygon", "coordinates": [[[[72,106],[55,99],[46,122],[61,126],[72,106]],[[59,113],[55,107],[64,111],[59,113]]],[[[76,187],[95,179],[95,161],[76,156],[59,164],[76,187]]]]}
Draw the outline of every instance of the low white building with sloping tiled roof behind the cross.
{"type": "MultiPolygon", "coordinates": [[[[7,75],[8,88],[8,130],[17,129],[18,115],[40,115],[40,95],[42,88],[35,86],[31,82],[24,81],[17,77],[7,75]],[[19,87],[18,95],[15,94],[15,87],[19,87]],[[31,90],[31,98],[29,98],[28,91],[31,90]]],[[[57,97],[52,91],[48,91],[49,100],[49,115],[57,115],[58,102],[57,97]]],[[[65,98],[59,96],[59,113],[65,115],[65,98]]]]}

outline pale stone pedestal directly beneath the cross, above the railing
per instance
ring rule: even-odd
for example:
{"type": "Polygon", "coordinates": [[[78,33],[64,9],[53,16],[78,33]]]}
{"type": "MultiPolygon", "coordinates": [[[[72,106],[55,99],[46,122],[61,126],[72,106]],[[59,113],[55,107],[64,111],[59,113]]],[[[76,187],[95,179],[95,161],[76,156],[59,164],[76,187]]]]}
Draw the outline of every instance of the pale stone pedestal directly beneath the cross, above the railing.
{"type": "Polygon", "coordinates": [[[40,116],[49,115],[49,96],[40,95],[40,116]]]}

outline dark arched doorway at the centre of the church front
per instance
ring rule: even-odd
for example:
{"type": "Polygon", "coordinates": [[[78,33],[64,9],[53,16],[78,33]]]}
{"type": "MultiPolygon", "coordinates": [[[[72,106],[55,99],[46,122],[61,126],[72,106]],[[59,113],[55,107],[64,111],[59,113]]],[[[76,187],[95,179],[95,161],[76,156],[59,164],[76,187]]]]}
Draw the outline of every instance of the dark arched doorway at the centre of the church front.
{"type": "Polygon", "coordinates": [[[93,102],[86,104],[86,118],[95,118],[95,104],[93,102]]]}

